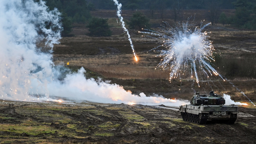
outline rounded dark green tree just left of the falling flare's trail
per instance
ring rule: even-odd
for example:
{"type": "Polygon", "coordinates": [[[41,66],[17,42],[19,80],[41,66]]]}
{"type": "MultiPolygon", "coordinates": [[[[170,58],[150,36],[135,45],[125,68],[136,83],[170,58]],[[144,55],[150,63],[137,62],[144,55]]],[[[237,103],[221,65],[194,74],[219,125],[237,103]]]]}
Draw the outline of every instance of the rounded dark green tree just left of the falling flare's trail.
{"type": "Polygon", "coordinates": [[[89,28],[89,35],[96,37],[106,37],[111,36],[112,31],[107,23],[108,19],[100,18],[100,17],[92,17],[89,20],[89,24],[86,26],[89,28]]]}

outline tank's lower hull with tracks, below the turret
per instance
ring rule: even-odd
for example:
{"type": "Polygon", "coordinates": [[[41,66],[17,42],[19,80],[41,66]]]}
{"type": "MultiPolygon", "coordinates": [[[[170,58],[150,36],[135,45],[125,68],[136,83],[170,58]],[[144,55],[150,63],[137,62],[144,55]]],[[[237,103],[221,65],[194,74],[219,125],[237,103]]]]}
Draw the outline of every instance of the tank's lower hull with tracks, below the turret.
{"type": "Polygon", "coordinates": [[[236,121],[238,106],[235,105],[183,105],[179,111],[184,121],[205,124],[207,120],[220,120],[229,124],[236,121]]]}

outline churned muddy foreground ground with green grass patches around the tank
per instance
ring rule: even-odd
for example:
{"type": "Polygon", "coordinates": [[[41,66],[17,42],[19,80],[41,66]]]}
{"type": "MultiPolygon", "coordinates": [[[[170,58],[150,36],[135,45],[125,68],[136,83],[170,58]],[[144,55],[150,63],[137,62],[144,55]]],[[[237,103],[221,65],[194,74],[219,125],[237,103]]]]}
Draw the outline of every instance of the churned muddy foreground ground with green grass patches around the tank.
{"type": "Polygon", "coordinates": [[[199,125],[155,106],[0,101],[0,143],[253,144],[255,116],[239,106],[234,124],[199,125]]]}

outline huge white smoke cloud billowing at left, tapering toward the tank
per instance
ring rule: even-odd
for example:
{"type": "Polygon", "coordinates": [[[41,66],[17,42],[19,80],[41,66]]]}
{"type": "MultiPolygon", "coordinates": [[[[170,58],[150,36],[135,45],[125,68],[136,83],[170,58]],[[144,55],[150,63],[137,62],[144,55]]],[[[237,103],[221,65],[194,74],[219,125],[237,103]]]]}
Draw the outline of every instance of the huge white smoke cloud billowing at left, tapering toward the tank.
{"type": "Polygon", "coordinates": [[[0,15],[2,100],[57,101],[60,98],[72,102],[170,106],[187,103],[157,95],[133,95],[117,84],[86,79],[84,68],[71,73],[63,66],[55,66],[51,52],[53,44],[58,44],[61,38],[60,13],[57,9],[49,11],[43,1],[0,0],[0,15]],[[42,42],[44,46],[38,47],[42,42]]]}

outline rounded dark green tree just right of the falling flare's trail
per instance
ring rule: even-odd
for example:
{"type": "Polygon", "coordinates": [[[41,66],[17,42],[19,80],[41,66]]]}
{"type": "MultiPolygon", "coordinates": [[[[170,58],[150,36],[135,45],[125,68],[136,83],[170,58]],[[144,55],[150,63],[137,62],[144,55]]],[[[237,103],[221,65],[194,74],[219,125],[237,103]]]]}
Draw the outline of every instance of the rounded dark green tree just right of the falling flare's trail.
{"type": "Polygon", "coordinates": [[[149,18],[143,16],[141,12],[135,12],[127,23],[129,28],[134,30],[141,30],[142,28],[150,27],[149,18]]]}

